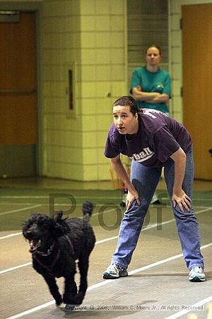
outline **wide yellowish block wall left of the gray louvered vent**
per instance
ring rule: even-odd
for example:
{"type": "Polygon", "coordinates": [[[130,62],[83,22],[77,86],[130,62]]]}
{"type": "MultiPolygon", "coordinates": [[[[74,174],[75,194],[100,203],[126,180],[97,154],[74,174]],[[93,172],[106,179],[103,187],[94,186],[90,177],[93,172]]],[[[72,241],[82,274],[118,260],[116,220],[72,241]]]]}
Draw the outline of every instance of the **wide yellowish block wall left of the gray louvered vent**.
{"type": "Polygon", "coordinates": [[[49,177],[110,179],[103,155],[112,101],[126,94],[125,0],[42,3],[45,169],[49,177]],[[67,70],[76,63],[76,116],[67,70]]]}

